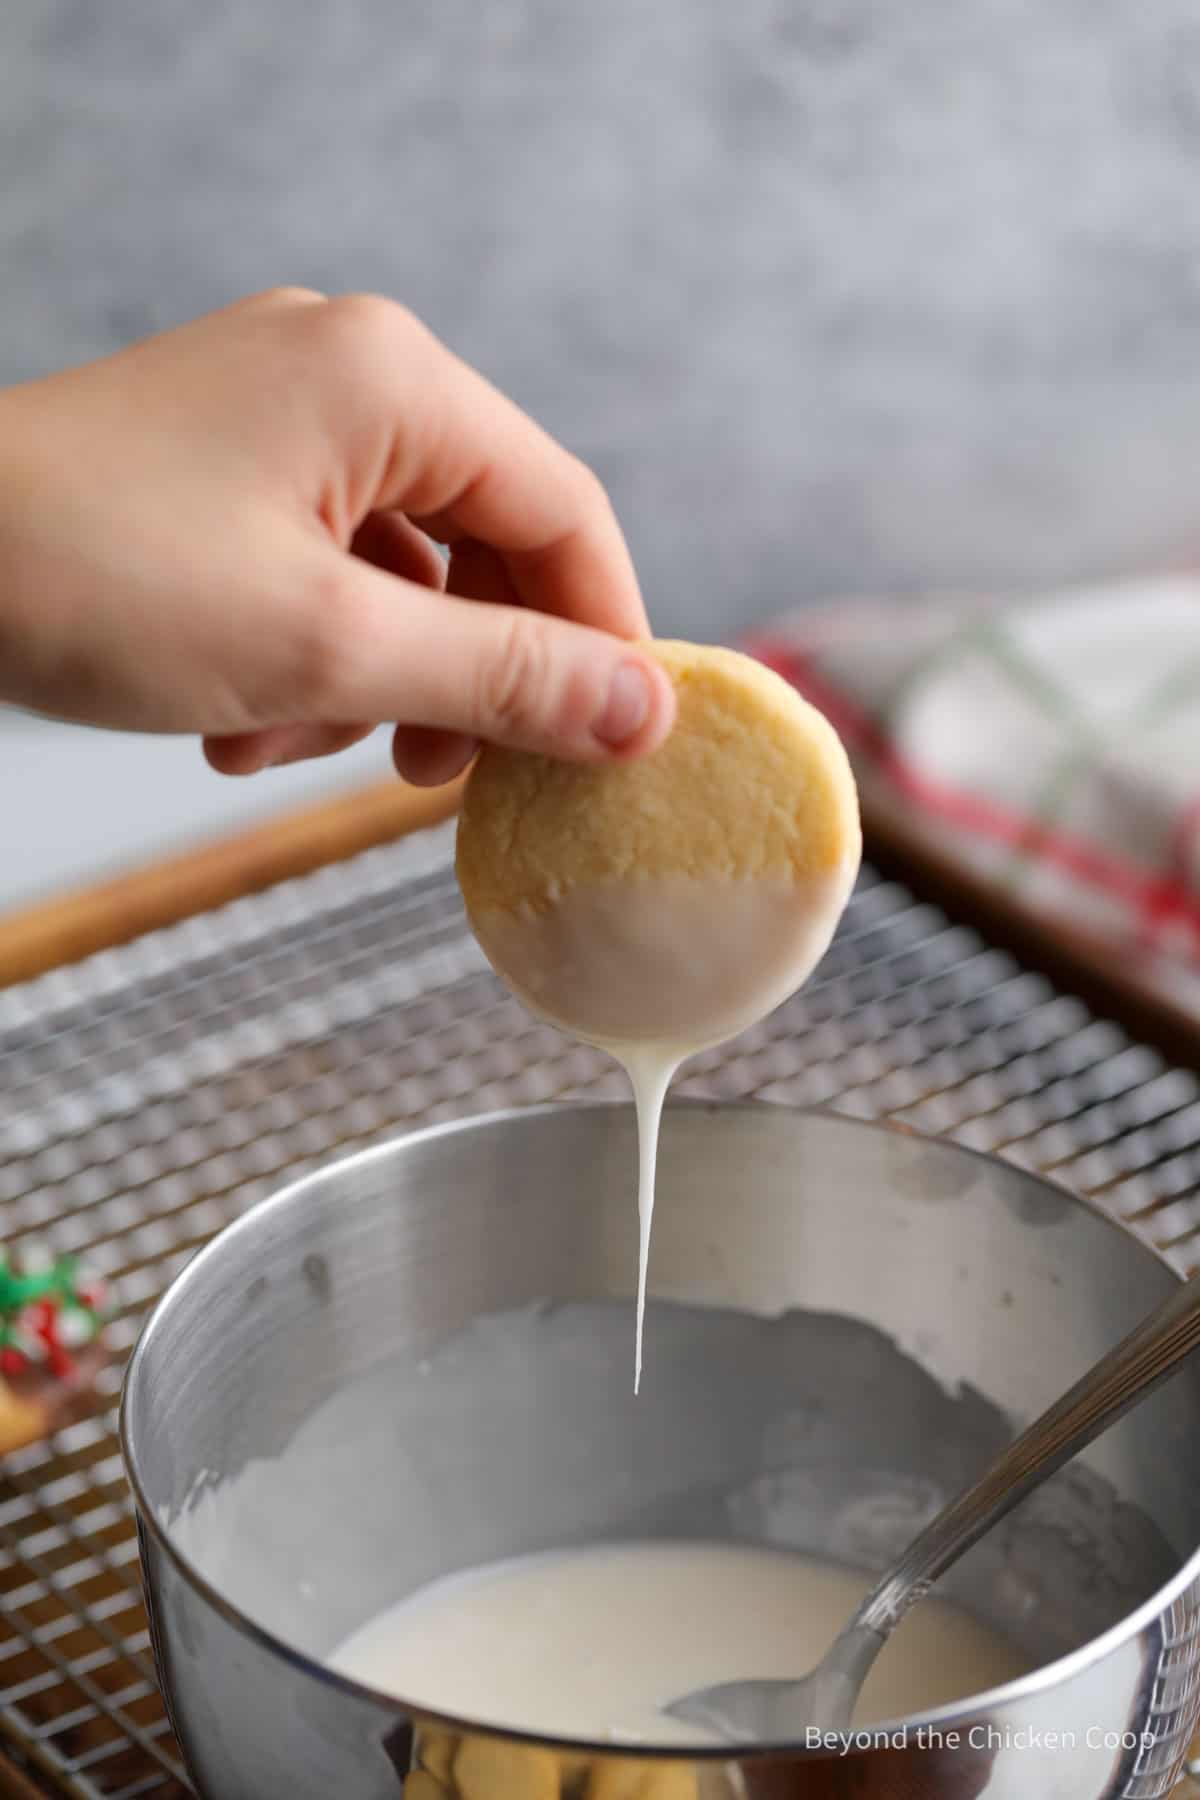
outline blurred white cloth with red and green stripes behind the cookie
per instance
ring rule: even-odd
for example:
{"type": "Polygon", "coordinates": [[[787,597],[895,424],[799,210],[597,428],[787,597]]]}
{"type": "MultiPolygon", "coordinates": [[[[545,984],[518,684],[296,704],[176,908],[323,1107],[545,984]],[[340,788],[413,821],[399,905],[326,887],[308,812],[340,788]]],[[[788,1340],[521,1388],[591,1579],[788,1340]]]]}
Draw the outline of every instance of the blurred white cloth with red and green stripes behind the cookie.
{"type": "Polygon", "coordinates": [[[1200,580],[840,603],[743,648],[873,799],[1200,1019],[1200,580]]]}

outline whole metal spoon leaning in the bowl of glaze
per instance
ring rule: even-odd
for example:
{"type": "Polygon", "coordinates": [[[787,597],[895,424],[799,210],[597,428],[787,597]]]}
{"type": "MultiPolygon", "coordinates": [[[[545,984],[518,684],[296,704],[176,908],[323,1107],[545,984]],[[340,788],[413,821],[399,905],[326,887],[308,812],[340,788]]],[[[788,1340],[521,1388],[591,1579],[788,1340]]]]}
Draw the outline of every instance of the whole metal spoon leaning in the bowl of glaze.
{"type": "Polygon", "coordinates": [[[909,1607],[1034,1487],[1166,1381],[1200,1345],[1200,1274],[1177,1287],[952,1499],[878,1579],[815,1669],[786,1681],[723,1681],[662,1710],[729,1742],[844,1732],[871,1665],[909,1607]]]}

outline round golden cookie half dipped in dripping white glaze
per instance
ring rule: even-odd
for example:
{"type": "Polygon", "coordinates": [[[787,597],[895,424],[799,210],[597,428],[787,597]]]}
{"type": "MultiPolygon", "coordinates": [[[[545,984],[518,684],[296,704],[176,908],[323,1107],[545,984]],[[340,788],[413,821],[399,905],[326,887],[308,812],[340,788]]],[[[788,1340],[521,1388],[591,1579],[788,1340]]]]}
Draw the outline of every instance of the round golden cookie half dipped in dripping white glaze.
{"type": "Polygon", "coordinates": [[[829,722],[736,650],[646,646],[675,727],[651,756],[583,767],[486,747],[457,871],[497,974],[604,1048],[720,1044],[808,979],[862,855],[829,722]]]}

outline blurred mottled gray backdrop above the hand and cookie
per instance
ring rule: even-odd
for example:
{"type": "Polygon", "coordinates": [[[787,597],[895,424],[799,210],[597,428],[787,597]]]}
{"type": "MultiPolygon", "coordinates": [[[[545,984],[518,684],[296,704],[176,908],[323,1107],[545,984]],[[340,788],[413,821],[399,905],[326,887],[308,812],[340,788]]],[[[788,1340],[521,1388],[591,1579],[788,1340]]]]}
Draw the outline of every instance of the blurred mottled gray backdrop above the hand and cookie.
{"type": "Polygon", "coordinates": [[[408,301],[658,630],[1196,547],[1196,0],[7,0],[0,380],[408,301]]]}

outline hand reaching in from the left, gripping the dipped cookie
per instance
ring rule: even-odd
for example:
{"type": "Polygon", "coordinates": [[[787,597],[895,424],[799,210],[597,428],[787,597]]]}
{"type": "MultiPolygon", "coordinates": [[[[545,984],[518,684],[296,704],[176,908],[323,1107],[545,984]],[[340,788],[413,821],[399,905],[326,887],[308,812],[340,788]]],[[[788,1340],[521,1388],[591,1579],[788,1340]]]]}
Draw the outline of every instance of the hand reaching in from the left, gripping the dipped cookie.
{"type": "Polygon", "coordinates": [[[646,635],[596,477],[389,301],[281,290],[0,392],[2,700],[225,774],[399,722],[435,783],[482,738],[655,749],[646,635]]]}

